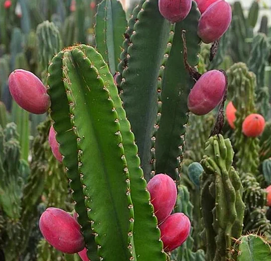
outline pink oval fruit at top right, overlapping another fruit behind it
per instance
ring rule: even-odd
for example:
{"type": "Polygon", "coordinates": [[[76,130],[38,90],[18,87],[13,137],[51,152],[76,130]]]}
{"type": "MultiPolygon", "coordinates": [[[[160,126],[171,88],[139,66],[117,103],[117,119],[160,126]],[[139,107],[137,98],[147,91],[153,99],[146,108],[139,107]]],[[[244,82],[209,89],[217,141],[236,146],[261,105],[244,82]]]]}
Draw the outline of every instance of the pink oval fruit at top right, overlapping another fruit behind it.
{"type": "Polygon", "coordinates": [[[218,40],[229,28],[231,7],[224,0],[219,0],[208,7],[199,19],[198,36],[206,43],[218,40]]]}

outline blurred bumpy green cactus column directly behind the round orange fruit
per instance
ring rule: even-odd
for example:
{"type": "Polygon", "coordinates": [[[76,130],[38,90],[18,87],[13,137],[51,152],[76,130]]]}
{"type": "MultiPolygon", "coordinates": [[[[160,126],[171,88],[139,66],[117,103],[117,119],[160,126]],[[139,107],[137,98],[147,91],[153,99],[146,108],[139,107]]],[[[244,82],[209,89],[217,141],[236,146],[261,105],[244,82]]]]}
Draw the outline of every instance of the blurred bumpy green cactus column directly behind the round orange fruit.
{"type": "Polygon", "coordinates": [[[227,73],[229,98],[237,110],[235,113],[236,120],[234,121],[234,149],[237,151],[236,167],[240,175],[253,173],[258,176],[259,140],[242,134],[242,123],[245,117],[256,111],[254,103],[256,78],[254,73],[249,72],[243,63],[234,64],[227,73]]]}

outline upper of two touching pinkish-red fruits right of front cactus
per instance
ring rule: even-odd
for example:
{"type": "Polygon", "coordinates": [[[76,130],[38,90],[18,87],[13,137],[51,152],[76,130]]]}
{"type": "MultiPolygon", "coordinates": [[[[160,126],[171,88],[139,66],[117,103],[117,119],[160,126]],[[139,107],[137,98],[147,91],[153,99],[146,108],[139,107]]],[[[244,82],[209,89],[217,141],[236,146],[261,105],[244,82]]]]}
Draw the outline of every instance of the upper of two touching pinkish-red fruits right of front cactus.
{"type": "Polygon", "coordinates": [[[149,181],[147,189],[151,194],[151,202],[160,224],[171,214],[175,206],[177,199],[175,182],[166,174],[157,174],[149,181]]]}

